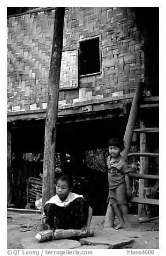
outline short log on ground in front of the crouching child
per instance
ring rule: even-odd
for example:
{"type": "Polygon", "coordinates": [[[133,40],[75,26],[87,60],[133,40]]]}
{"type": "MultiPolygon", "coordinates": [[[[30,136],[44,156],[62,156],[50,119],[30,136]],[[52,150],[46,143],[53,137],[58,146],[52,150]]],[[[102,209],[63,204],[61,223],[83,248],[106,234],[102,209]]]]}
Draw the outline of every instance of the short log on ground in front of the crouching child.
{"type": "Polygon", "coordinates": [[[93,237],[94,231],[90,230],[89,234],[80,229],[57,229],[41,231],[36,234],[35,238],[39,242],[59,240],[59,239],[79,239],[83,237],[93,237]]]}

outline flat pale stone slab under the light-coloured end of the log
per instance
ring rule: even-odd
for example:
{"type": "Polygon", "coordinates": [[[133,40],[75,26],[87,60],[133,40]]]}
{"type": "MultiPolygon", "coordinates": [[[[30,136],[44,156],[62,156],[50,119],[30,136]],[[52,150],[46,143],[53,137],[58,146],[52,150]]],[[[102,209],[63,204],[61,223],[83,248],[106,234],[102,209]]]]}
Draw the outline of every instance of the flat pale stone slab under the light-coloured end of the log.
{"type": "Polygon", "coordinates": [[[81,246],[79,241],[75,240],[52,240],[40,243],[35,237],[26,237],[21,239],[21,245],[24,249],[74,249],[81,246]]]}

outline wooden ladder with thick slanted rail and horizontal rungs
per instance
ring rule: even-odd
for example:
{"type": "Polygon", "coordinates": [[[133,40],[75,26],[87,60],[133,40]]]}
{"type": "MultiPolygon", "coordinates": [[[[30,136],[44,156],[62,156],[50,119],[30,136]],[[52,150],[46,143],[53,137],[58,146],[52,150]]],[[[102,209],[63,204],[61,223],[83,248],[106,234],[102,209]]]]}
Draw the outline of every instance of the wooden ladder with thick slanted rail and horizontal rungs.
{"type": "MultiPolygon", "coordinates": [[[[130,110],[129,119],[126,126],[126,131],[124,135],[125,149],[122,152],[122,156],[125,160],[128,157],[140,157],[140,173],[130,173],[131,178],[139,179],[139,197],[132,197],[130,202],[138,203],[138,212],[141,213],[142,204],[152,204],[159,205],[159,200],[152,198],[144,198],[144,187],[145,180],[159,180],[159,175],[149,175],[147,174],[147,159],[149,157],[159,157],[159,153],[148,153],[146,152],[146,134],[147,133],[156,133],[159,132],[159,127],[145,127],[144,122],[140,121],[140,128],[135,129],[135,123],[138,118],[138,112],[140,108],[153,108],[159,106],[159,104],[141,104],[141,98],[144,93],[144,83],[139,83],[134,94],[132,101],[132,106],[130,110]],[[140,133],[140,152],[138,153],[129,153],[133,133],[140,133]]],[[[112,212],[111,207],[107,208],[107,213],[105,215],[104,227],[109,227],[112,225],[112,212]]]]}

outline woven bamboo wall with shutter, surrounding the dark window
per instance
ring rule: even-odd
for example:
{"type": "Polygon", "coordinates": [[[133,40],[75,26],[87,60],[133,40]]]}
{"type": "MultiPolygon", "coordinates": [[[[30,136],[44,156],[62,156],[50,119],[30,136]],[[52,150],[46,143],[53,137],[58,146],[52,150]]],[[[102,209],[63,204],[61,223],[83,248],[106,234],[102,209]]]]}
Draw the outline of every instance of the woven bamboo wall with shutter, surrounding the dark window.
{"type": "MultiPolygon", "coordinates": [[[[129,8],[66,8],[60,105],[133,93],[144,79],[144,54],[132,23],[129,8]],[[79,77],[79,41],[96,35],[102,72],[79,77]]],[[[46,108],[53,26],[54,9],[7,18],[9,112],[46,108]]]]}

